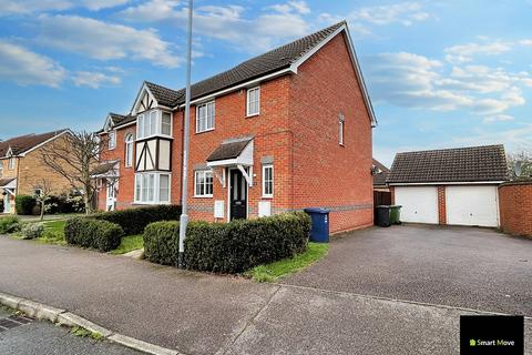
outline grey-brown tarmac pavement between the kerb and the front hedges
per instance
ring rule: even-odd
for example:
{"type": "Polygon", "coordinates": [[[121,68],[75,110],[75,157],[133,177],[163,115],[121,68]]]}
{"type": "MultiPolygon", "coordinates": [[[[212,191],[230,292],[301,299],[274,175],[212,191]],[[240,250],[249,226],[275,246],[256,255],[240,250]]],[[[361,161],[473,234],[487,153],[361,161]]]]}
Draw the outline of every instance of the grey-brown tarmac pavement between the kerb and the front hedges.
{"type": "MultiPolygon", "coordinates": [[[[335,241],[315,267],[345,241],[335,241]]],[[[184,354],[458,353],[459,315],[467,312],[328,288],[256,284],[0,237],[0,292],[184,354]]]]}

